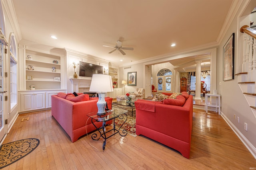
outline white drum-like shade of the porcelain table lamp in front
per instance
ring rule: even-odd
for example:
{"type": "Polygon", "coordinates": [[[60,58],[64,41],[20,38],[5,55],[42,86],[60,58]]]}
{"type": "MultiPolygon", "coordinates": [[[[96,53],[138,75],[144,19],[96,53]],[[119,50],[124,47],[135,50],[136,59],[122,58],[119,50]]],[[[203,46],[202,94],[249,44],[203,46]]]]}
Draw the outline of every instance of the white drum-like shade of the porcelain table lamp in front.
{"type": "Polygon", "coordinates": [[[93,74],[90,92],[113,92],[112,78],[110,75],[93,74]]]}

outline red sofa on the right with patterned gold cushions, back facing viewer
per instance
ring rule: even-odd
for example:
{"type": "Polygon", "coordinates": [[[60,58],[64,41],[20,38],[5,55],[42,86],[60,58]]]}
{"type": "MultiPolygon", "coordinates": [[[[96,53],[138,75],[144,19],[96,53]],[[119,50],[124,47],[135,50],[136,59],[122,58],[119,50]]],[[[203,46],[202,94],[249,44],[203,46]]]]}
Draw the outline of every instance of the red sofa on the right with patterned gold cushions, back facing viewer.
{"type": "MultiPolygon", "coordinates": [[[[171,93],[164,94],[171,95],[171,93]]],[[[184,96],[183,94],[177,97],[177,99],[165,99],[162,102],[147,100],[135,101],[136,135],[144,135],[178,150],[182,156],[189,159],[193,98],[191,95],[186,95],[187,99],[185,98],[183,106],[171,105],[172,102],[177,103],[177,99],[184,96]]]]}

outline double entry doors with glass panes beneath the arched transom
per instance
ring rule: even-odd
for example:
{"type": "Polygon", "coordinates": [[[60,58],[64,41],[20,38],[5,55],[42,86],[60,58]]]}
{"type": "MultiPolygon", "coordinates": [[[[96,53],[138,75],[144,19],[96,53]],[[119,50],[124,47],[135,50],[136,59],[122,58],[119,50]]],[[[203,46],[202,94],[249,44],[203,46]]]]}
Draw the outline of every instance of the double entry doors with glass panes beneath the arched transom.
{"type": "Polygon", "coordinates": [[[172,75],[156,76],[157,92],[172,93],[172,75]]]}

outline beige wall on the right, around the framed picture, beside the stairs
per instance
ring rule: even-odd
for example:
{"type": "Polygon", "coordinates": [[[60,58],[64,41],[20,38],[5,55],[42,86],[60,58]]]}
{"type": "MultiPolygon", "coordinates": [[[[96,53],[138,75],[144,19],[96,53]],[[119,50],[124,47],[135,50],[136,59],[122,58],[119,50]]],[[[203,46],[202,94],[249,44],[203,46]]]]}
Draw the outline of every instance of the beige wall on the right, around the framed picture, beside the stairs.
{"type": "MultiPolygon", "coordinates": [[[[255,4],[255,3],[254,3],[255,4]]],[[[255,4],[256,6],[256,4],[255,4]]],[[[225,45],[228,38],[235,33],[235,67],[238,67],[237,63],[238,57],[242,57],[242,55],[238,54],[237,49],[241,49],[239,47],[238,42],[240,38],[242,38],[240,31],[239,17],[236,16],[232,21],[230,27],[228,28],[223,40],[220,43],[220,48],[218,50],[217,56],[217,89],[218,93],[221,95],[221,110],[222,115],[227,119],[232,128],[236,131],[238,136],[242,138],[242,141],[247,141],[248,144],[253,145],[253,149],[256,147],[256,118],[250,109],[250,106],[246,102],[244,94],[240,90],[238,85],[237,76],[234,77],[234,80],[223,81],[223,46],[225,45]],[[238,26],[239,25],[239,26],[238,26]],[[234,114],[236,114],[236,119],[234,119],[234,114]],[[237,121],[237,117],[239,117],[240,123],[237,121]],[[244,130],[244,123],[248,124],[248,131],[244,130]]],[[[250,25],[250,21],[247,20],[247,25],[250,25]]],[[[240,53],[240,52],[239,52],[240,53]]],[[[239,66],[240,67],[240,66],[239,66]]],[[[235,68],[235,70],[240,70],[235,68]]],[[[238,72],[235,72],[235,74],[238,72]]],[[[254,155],[255,155],[254,150],[254,155]]]]}

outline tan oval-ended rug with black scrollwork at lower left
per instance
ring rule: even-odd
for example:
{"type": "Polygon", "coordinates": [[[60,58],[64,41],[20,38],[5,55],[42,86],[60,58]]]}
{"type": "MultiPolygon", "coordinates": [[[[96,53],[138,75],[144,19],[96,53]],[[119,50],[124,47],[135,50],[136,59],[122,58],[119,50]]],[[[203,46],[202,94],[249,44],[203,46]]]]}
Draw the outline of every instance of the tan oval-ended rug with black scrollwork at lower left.
{"type": "Polygon", "coordinates": [[[1,145],[0,147],[0,169],[20,160],[28,155],[39,145],[38,139],[22,139],[1,145]]]}

